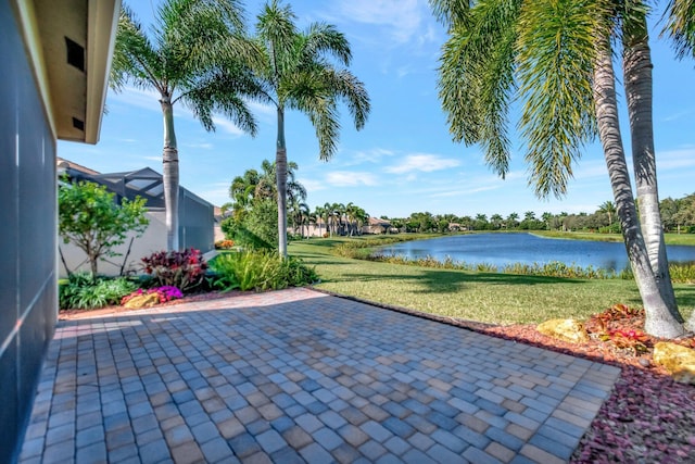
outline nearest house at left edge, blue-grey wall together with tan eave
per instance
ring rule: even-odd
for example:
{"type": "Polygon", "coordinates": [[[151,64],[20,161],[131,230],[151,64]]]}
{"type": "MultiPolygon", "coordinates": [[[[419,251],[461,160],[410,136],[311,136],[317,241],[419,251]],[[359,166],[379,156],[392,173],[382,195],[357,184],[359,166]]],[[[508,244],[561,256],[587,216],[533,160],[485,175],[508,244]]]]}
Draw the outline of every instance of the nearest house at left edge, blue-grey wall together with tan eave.
{"type": "Polygon", "coordinates": [[[97,143],[121,0],[0,1],[0,463],[58,319],[56,140],[97,143]]]}

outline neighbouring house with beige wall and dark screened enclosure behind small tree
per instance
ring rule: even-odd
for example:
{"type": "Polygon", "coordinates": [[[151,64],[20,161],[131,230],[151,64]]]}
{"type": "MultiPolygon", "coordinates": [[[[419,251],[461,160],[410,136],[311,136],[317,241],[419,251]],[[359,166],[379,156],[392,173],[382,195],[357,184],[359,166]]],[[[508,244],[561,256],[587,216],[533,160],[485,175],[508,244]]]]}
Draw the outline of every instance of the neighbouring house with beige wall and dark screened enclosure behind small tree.
{"type": "MultiPolygon", "coordinates": [[[[118,275],[124,271],[139,272],[140,259],[153,252],[166,250],[166,223],[164,209],[164,187],[162,175],[150,167],[132,172],[100,174],[93,170],[72,163],[64,159],[58,160],[59,173],[67,175],[73,180],[92,181],[106,187],[115,193],[114,199],[121,203],[123,198],[134,200],[141,197],[147,200],[147,216],[150,224],[144,234],[129,237],[121,247],[114,249],[119,256],[109,258],[99,262],[99,274],[118,275]],[[124,262],[125,261],[125,262],[124,262]]],[[[179,244],[181,249],[195,248],[203,253],[214,248],[214,206],[191,191],[179,186],[179,244]]],[[[88,271],[83,250],[72,243],[59,241],[61,251],[60,276],[67,275],[67,268],[88,271]],[[64,260],[64,262],[63,262],[64,260]]]]}

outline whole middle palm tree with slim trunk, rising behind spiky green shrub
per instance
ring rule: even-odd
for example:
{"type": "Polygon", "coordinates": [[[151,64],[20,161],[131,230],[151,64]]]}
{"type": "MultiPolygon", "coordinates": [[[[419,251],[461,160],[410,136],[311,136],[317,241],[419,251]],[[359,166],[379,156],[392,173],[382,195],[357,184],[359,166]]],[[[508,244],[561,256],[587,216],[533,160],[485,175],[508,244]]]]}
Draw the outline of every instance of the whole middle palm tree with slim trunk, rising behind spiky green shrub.
{"type": "Polygon", "coordinates": [[[273,0],[256,24],[264,49],[263,64],[256,67],[256,74],[264,88],[263,100],[277,112],[278,248],[282,256],[287,255],[286,110],[299,110],[308,116],[316,129],[321,160],[330,159],[338,148],[339,101],[346,103],[356,129],[364,127],[369,113],[364,84],[349,70],[336,67],[328,60],[334,59],[339,66],[350,65],[348,39],[327,24],[311,24],[302,33],[294,24],[295,18],[289,5],[273,0]]]}

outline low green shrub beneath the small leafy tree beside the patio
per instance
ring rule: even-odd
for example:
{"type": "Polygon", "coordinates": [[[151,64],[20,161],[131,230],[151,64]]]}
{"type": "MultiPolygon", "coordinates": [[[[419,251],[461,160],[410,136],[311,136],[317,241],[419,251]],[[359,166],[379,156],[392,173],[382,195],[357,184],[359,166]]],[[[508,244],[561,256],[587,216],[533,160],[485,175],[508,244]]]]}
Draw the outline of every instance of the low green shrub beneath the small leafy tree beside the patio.
{"type": "Polygon", "coordinates": [[[91,274],[75,273],[59,287],[59,306],[89,310],[121,304],[121,299],[137,288],[137,284],[126,277],[92,279],[91,274]]]}

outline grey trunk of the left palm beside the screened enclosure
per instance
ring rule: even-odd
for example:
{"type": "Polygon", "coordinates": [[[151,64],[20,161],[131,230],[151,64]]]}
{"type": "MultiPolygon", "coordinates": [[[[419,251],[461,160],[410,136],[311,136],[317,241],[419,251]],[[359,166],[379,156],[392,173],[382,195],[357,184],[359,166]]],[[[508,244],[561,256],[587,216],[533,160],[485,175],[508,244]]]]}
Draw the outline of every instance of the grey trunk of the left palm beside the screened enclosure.
{"type": "Polygon", "coordinates": [[[178,150],[174,131],[174,106],[168,95],[160,99],[164,117],[164,150],[162,152],[162,184],[166,224],[166,249],[178,251],[178,150]]]}

